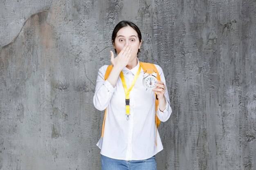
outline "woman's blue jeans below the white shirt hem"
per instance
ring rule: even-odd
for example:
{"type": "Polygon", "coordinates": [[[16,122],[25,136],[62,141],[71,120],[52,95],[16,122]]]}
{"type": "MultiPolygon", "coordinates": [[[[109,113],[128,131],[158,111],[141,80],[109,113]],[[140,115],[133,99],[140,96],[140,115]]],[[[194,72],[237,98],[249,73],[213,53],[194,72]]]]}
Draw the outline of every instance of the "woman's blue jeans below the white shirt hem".
{"type": "Polygon", "coordinates": [[[142,160],[120,160],[101,155],[101,170],[157,170],[155,156],[142,160]]]}

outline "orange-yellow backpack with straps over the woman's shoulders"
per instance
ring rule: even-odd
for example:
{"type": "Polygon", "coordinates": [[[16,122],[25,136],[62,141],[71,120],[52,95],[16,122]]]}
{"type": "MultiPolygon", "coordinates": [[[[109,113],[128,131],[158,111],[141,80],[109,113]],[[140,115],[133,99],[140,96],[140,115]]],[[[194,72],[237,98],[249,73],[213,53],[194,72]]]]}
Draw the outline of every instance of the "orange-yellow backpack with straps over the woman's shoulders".
{"type": "MultiPolygon", "coordinates": [[[[143,69],[143,71],[145,72],[146,70],[152,69],[157,73],[157,79],[160,79],[159,73],[157,71],[157,68],[155,67],[155,65],[153,63],[147,63],[147,62],[139,62],[141,68],[143,69]]],[[[104,80],[106,80],[108,78],[108,75],[110,74],[112,70],[112,65],[108,65],[108,68],[106,70],[105,76],[104,76],[104,80]]],[[[150,71],[152,71],[150,70],[150,71]]],[[[153,71],[152,71],[153,73],[153,71]]],[[[150,73],[151,74],[151,73],[150,73]]],[[[159,100],[157,97],[157,94],[155,93],[155,124],[156,124],[156,132],[157,132],[157,128],[160,124],[160,120],[157,117],[157,106],[158,106],[159,100]]],[[[107,107],[108,108],[108,107],[107,107]]],[[[101,131],[101,137],[103,137],[103,133],[104,133],[104,125],[105,125],[105,119],[106,119],[106,113],[107,113],[107,108],[105,109],[105,114],[104,114],[104,119],[103,119],[103,124],[102,124],[102,131],[101,131]]],[[[157,145],[157,141],[156,141],[156,145],[157,145]]]]}

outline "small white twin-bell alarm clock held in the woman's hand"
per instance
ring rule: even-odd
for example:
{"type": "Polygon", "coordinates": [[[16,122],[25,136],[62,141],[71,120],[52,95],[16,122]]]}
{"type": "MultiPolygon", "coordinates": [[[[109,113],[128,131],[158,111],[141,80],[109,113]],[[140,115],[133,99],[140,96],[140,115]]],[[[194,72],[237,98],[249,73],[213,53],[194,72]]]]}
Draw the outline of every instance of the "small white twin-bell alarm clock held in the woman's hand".
{"type": "MultiPolygon", "coordinates": [[[[152,70],[152,69],[149,69],[152,70]]],[[[146,73],[148,70],[146,70],[143,74],[142,84],[147,89],[153,89],[156,87],[157,84],[157,73],[154,71],[152,74],[146,73]]]]}

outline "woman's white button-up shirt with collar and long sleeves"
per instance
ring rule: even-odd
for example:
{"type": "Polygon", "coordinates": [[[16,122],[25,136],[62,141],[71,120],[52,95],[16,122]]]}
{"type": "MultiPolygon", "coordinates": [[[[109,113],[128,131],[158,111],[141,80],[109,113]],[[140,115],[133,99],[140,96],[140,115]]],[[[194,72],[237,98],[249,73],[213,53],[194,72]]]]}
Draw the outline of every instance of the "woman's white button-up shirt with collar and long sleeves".
{"type": "MultiPolygon", "coordinates": [[[[138,59],[137,59],[138,60],[138,59]]],[[[165,84],[164,97],[166,108],[162,111],[157,109],[157,117],[160,121],[167,121],[172,113],[170,99],[168,96],[164,73],[162,68],[156,65],[161,81],[165,84]]],[[[155,125],[155,94],[142,85],[142,67],[135,85],[130,91],[130,116],[126,119],[126,102],[124,86],[120,76],[117,79],[115,88],[106,79],[108,65],[99,68],[93,104],[98,110],[107,108],[103,137],[97,143],[101,154],[113,159],[141,160],[148,159],[163,150],[162,142],[155,125]],[[155,144],[157,138],[157,146],[155,144]]],[[[125,82],[129,88],[139,68],[131,70],[124,68],[125,82]]]]}

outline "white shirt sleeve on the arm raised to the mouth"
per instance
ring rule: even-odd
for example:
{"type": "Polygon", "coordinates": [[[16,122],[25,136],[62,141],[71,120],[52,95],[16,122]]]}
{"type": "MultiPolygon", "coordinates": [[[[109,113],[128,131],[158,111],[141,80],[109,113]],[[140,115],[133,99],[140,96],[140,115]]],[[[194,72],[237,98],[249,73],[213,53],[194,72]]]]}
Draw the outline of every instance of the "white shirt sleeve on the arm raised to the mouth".
{"type": "Polygon", "coordinates": [[[93,104],[98,110],[104,110],[108,107],[110,99],[116,90],[116,86],[113,87],[107,79],[104,80],[107,67],[108,65],[104,65],[99,68],[97,76],[93,104]]]}

